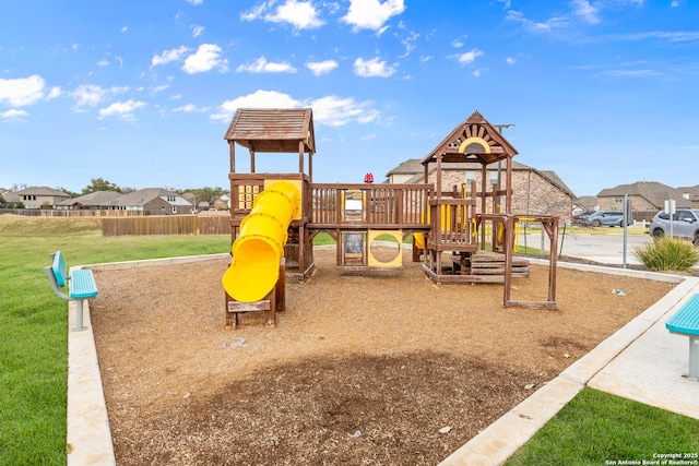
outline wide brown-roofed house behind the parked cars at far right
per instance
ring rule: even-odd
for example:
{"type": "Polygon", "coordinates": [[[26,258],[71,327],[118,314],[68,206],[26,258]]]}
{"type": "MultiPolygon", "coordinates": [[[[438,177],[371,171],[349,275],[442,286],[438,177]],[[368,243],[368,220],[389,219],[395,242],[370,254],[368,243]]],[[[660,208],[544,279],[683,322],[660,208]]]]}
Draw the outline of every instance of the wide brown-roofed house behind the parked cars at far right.
{"type": "Polygon", "coordinates": [[[684,194],[683,190],[657,181],[637,181],[603,189],[597,194],[597,203],[600,211],[623,211],[624,198],[628,195],[631,201],[631,211],[662,211],[665,201],[671,199],[675,200],[676,207],[690,207],[691,201],[684,194]]]}

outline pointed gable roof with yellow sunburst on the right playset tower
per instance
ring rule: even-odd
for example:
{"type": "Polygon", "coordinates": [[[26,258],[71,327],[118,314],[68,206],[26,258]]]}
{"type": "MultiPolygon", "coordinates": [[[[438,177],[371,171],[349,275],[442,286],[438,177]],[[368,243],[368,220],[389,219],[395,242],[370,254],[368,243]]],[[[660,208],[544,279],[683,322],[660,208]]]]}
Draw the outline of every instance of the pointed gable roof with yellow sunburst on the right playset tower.
{"type": "Polygon", "coordinates": [[[441,156],[443,163],[479,162],[491,164],[517,155],[517,150],[478,111],[453,129],[423,158],[426,165],[441,156]]]}

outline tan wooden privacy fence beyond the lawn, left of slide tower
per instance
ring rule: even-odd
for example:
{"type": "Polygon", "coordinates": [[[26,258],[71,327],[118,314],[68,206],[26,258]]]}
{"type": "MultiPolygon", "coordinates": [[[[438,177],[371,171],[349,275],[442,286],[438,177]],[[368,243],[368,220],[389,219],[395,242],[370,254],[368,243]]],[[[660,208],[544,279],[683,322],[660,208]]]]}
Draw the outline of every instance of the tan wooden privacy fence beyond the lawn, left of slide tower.
{"type": "Polygon", "coordinates": [[[230,235],[230,217],[228,215],[149,215],[103,218],[102,235],[230,235]]]}

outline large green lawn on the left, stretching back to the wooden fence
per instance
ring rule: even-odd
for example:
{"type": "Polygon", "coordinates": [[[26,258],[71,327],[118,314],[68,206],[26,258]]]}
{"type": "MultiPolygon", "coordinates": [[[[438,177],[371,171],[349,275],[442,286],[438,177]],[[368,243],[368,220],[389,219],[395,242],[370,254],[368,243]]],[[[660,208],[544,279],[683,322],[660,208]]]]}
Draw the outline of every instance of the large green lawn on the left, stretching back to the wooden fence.
{"type": "MultiPolygon", "coordinates": [[[[66,464],[68,307],[44,267],[227,252],[228,235],[111,237],[92,219],[0,216],[0,465],[66,464]]],[[[99,285],[99,284],[97,284],[99,285]]]]}

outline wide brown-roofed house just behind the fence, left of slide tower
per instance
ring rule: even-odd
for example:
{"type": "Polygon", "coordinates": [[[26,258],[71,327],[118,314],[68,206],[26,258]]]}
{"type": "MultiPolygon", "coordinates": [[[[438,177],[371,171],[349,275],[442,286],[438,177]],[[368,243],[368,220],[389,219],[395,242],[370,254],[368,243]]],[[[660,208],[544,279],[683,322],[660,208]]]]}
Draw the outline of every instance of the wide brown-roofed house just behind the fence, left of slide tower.
{"type": "Polygon", "coordinates": [[[115,211],[140,211],[144,215],[191,214],[194,206],[182,195],[162,188],[145,188],[123,194],[109,204],[115,211]]]}

